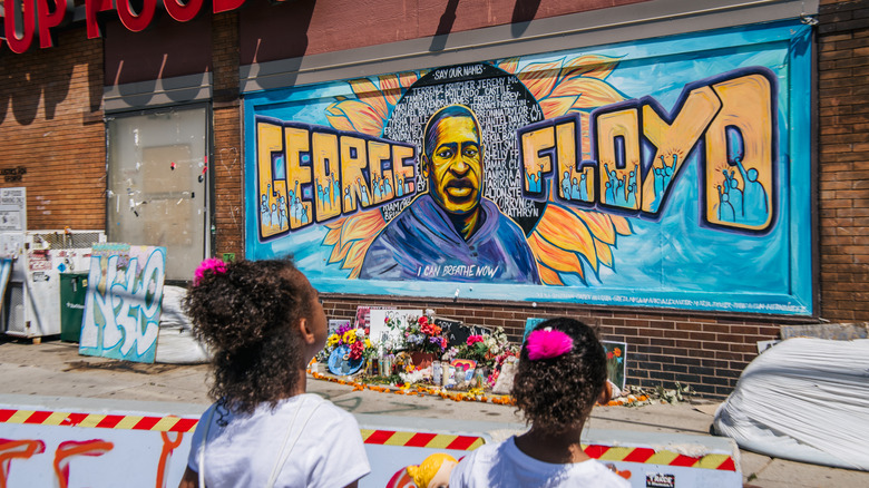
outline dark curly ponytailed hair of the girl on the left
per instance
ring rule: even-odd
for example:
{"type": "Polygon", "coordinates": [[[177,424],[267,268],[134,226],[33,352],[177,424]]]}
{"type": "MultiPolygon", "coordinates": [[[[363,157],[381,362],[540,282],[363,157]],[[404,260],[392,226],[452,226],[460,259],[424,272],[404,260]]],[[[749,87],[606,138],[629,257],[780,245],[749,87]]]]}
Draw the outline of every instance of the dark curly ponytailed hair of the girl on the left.
{"type": "Polygon", "coordinates": [[[183,305],[213,354],[213,399],[252,412],[294,391],[305,358],[292,324],[311,315],[313,293],[290,258],[236,261],[225,272],[205,272],[183,305]]]}

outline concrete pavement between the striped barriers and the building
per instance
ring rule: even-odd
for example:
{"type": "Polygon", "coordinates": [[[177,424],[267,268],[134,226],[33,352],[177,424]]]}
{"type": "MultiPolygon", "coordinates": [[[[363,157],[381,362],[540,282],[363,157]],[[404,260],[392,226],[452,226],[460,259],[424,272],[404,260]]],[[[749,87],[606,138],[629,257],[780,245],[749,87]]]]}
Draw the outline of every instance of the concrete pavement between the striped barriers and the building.
{"type": "MultiPolygon", "coordinates": [[[[206,364],[140,364],[78,354],[78,344],[0,336],[2,396],[75,397],[208,404],[206,364]]],[[[396,396],[309,378],[307,391],[352,413],[502,422],[506,432],[523,428],[516,409],[436,397],[396,396]]],[[[707,435],[714,404],[596,407],[587,427],[639,432],[707,435]]],[[[865,447],[855,446],[855,449],[865,447]]],[[[741,450],[746,487],[869,487],[869,472],[770,458],[741,450]]]]}

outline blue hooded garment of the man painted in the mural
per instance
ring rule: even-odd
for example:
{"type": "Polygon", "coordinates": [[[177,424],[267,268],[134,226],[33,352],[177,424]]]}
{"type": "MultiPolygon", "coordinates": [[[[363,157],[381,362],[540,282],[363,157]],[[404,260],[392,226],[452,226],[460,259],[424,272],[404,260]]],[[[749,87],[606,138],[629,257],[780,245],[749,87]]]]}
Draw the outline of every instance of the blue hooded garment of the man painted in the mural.
{"type": "Polygon", "coordinates": [[[521,228],[482,198],[485,221],[466,242],[430,195],[420,195],[371,243],[361,279],[540,283],[521,228]]]}

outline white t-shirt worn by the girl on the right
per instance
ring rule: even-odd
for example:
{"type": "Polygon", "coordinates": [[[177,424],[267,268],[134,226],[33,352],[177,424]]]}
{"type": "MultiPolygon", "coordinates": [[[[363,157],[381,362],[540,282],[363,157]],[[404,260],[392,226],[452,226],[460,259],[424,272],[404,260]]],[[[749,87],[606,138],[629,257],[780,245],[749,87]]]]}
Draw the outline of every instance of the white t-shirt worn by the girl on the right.
{"type": "Polygon", "coordinates": [[[520,451],[511,437],[484,445],[466,456],[450,475],[450,488],[628,488],[626,479],[589,459],[554,465],[520,451]]]}

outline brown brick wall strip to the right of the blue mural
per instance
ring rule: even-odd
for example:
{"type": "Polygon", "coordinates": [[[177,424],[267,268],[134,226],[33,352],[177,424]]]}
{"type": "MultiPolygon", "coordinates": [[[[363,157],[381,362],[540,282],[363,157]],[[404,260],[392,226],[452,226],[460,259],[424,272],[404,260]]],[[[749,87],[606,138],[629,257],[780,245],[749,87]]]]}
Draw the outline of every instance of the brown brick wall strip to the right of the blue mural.
{"type": "Polygon", "coordinates": [[[869,321],[869,0],[821,1],[821,316],[869,321]]]}

